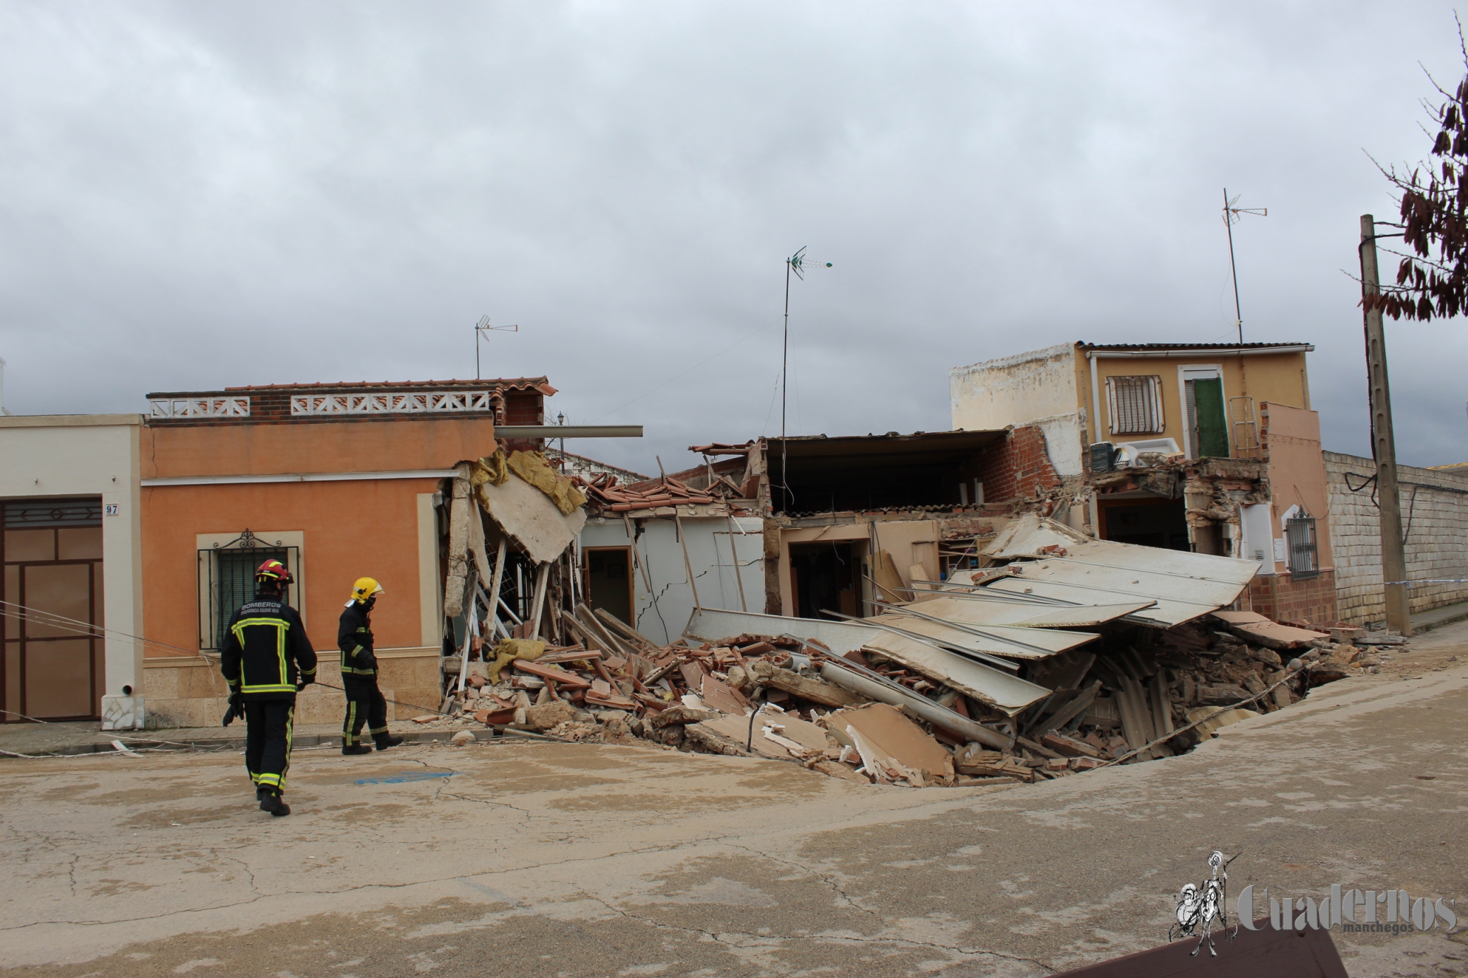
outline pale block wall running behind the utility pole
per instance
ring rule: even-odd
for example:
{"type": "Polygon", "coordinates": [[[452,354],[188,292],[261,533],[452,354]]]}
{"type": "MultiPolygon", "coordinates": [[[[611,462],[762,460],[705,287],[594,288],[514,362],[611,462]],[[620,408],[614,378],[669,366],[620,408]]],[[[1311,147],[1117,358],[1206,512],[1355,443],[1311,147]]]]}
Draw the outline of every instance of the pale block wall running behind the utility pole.
{"type": "MultiPolygon", "coordinates": [[[[1373,502],[1376,463],[1326,452],[1330,546],[1336,562],[1336,605],[1346,624],[1386,617],[1381,596],[1381,520],[1373,502]],[[1348,482],[1349,477],[1349,482],[1348,482]]],[[[1398,467],[1406,576],[1412,582],[1468,579],[1468,479],[1430,468],[1398,467]]],[[[1468,601],[1468,584],[1417,584],[1412,611],[1468,601]]]]}

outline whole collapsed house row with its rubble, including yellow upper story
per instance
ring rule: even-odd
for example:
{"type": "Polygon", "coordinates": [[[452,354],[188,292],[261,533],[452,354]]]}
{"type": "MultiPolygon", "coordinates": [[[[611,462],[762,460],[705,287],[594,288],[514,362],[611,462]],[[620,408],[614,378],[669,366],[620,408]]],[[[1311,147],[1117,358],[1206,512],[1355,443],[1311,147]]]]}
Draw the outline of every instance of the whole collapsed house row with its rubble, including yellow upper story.
{"type": "Polygon", "coordinates": [[[907,784],[1186,750],[1378,662],[1349,630],[1276,621],[1334,621],[1308,349],[1055,347],[956,370],[960,430],[711,443],[674,476],[599,473],[587,602],[545,648],[458,662],[476,677],[458,718],[423,720],[907,784]]]}

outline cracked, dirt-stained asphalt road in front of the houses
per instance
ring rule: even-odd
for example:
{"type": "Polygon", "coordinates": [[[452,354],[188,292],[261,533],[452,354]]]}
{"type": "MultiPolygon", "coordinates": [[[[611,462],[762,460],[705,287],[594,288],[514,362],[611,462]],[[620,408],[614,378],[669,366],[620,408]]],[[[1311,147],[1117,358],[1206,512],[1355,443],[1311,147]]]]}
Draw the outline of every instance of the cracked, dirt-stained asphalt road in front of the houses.
{"type": "MultiPolygon", "coordinates": [[[[301,750],[272,819],[236,755],[6,761],[0,968],[1047,975],[1161,943],[1216,847],[1242,852],[1235,893],[1468,897],[1465,640],[1186,756],[1038,786],[652,747],[301,750]]],[[[1334,937],[1356,977],[1468,972],[1461,934],[1334,937]]]]}

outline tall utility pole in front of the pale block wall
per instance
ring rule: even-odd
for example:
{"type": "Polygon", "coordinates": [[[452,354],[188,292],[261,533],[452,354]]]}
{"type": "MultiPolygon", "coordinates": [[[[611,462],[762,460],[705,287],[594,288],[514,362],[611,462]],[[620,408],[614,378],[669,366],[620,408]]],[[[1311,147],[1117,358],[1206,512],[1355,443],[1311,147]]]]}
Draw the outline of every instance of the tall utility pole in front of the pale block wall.
{"type": "Polygon", "coordinates": [[[1361,305],[1367,332],[1367,392],[1371,399],[1371,455],[1377,464],[1377,508],[1381,511],[1381,580],[1386,624],[1412,634],[1411,589],[1402,545],[1402,505],[1396,485],[1396,439],[1392,436],[1392,389],[1386,373],[1386,332],[1381,327],[1381,279],[1376,261],[1376,219],[1361,214],[1361,305]]]}

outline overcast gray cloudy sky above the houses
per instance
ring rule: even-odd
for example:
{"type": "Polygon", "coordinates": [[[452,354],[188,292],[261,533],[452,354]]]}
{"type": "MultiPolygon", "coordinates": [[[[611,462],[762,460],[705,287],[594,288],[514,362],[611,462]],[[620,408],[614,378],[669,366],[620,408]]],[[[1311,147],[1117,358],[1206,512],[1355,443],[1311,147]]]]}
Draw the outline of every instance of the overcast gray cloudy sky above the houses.
{"type": "MultiPolygon", "coordinates": [[[[148,391],[549,374],[580,442],[948,427],[1054,342],[1309,341],[1368,452],[1358,216],[1430,144],[1447,3],[0,0],[15,413],[148,391]]],[[[1389,263],[1387,267],[1395,267],[1389,263]]],[[[1461,322],[1389,325],[1403,461],[1468,460],[1461,322]]]]}

